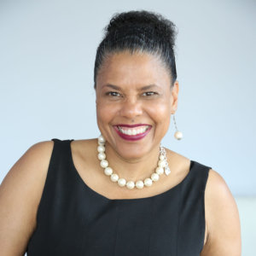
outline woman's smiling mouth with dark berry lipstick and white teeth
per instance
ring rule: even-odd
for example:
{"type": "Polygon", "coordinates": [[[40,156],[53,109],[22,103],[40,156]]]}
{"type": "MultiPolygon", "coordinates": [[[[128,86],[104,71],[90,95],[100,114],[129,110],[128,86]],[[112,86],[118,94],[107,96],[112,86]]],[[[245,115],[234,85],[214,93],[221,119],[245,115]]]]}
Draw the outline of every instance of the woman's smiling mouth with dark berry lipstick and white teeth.
{"type": "Polygon", "coordinates": [[[151,129],[151,125],[114,125],[114,130],[118,133],[119,137],[125,140],[135,141],[145,137],[151,129]]]}

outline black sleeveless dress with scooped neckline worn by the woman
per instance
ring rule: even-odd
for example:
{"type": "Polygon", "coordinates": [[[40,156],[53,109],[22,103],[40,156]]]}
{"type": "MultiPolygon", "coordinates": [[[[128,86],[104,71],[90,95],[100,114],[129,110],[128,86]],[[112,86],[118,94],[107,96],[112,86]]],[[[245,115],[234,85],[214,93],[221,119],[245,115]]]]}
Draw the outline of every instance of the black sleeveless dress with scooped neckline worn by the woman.
{"type": "Polygon", "coordinates": [[[205,235],[209,166],[160,195],[110,200],[90,189],[73,165],[70,143],[55,144],[27,256],[197,256],[205,235]]]}

